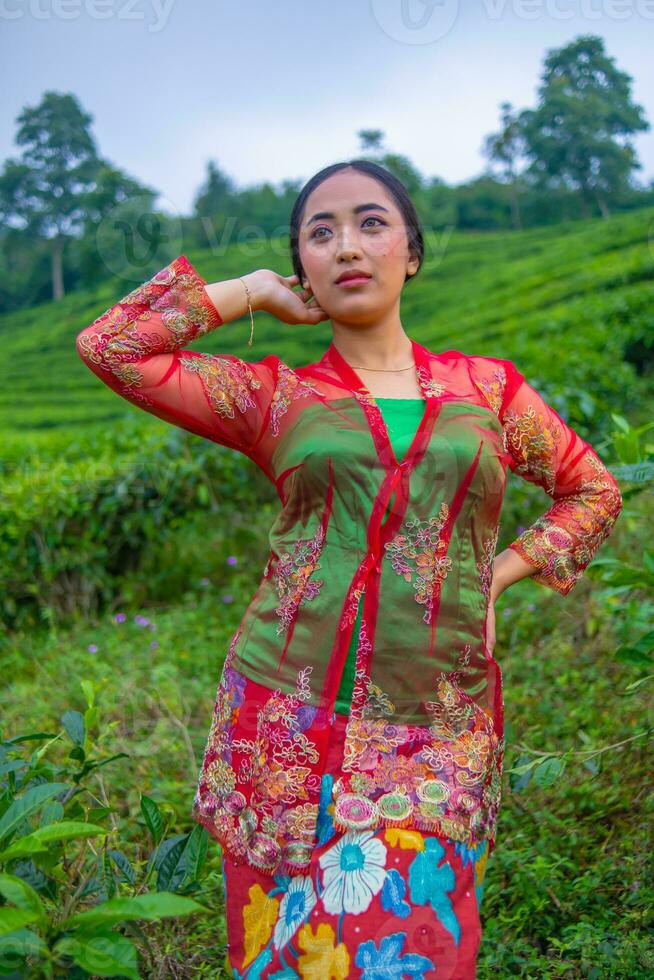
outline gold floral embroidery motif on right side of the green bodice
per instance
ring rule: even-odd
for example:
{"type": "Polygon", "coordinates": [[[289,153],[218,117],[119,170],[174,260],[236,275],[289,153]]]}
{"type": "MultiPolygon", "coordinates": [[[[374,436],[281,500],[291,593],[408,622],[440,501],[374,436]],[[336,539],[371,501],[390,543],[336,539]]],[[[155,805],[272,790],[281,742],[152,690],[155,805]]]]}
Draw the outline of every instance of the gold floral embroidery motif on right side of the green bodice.
{"type": "Polygon", "coordinates": [[[408,533],[396,534],[384,545],[385,557],[397,574],[413,581],[416,602],[426,606],[425,623],[431,623],[434,584],[446,578],[452,566],[452,559],[444,554],[447,542],[441,537],[448,516],[449,507],[443,501],[438,515],[425,521],[406,521],[408,533]]]}

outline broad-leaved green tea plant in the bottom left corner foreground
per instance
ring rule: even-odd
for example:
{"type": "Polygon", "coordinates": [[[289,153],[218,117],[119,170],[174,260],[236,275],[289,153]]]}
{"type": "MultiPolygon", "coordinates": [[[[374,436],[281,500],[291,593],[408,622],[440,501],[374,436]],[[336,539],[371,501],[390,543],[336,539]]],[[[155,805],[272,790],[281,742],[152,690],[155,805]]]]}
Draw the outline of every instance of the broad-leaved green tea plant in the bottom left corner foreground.
{"type": "Polygon", "coordinates": [[[136,943],[153,951],[139,923],[207,911],[190,897],[206,862],[202,828],[166,836],[171,814],[142,794],[141,846],[135,860],[121,850],[116,810],[97,777],[125,753],[104,755],[91,737],[102,713],[93,686],[82,688],[83,714],[66,711],[58,731],[0,744],[3,976],[138,980],[136,943]]]}

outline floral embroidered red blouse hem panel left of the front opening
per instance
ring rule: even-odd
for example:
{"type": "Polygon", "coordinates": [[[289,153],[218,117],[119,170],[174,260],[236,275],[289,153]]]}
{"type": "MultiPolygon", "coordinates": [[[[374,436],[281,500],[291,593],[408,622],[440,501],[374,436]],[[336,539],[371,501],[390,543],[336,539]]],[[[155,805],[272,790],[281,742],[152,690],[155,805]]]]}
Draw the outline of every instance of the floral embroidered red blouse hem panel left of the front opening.
{"type": "Polygon", "coordinates": [[[254,867],[295,873],[310,861],[320,795],[320,756],[306,734],[315,715],[311,667],[299,671],[293,693],[274,690],[260,700],[262,689],[232,666],[238,635],[218,687],[192,814],[254,867]],[[255,706],[256,724],[245,722],[254,737],[238,738],[241,712],[251,719],[255,706]]]}

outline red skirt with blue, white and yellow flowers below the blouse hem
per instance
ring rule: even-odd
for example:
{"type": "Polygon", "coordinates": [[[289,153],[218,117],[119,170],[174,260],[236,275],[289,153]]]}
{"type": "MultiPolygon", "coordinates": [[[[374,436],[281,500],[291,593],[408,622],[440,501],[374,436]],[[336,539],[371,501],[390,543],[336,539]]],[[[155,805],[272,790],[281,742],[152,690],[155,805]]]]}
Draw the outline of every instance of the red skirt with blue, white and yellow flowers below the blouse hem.
{"type": "Polygon", "coordinates": [[[224,856],[233,976],[474,980],[488,841],[340,833],[322,807],[321,817],[306,875],[271,877],[224,856]]]}

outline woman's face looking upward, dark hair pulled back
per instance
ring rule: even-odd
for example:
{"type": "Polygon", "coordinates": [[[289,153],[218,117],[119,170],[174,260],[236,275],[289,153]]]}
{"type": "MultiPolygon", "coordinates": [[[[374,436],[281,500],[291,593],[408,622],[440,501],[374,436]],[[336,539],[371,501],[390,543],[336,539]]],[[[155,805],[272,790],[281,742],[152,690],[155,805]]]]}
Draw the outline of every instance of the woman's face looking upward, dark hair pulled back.
{"type": "Polygon", "coordinates": [[[303,285],[339,323],[372,323],[398,302],[409,254],[402,212],[383,184],[358,170],[340,170],[307,198],[300,224],[303,285]],[[343,272],[360,269],[365,282],[339,285],[343,272]]]}

